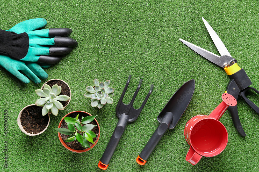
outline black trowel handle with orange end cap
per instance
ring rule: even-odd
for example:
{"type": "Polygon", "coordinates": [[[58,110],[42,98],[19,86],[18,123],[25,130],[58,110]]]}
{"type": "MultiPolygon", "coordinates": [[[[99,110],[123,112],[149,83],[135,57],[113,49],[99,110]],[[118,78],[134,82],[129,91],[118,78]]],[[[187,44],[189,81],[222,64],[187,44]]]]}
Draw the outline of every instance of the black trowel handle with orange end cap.
{"type": "Polygon", "coordinates": [[[164,114],[159,126],[156,128],[155,132],[150,137],[149,141],[147,142],[147,144],[139,154],[138,158],[136,159],[139,165],[145,165],[146,161],[148,160],[148,157],[153,152],[157,143],[160,141],[160,139],[168,129],[169,125],[171,124],[172,119],[172,112],[166,112],[164,114]]]}

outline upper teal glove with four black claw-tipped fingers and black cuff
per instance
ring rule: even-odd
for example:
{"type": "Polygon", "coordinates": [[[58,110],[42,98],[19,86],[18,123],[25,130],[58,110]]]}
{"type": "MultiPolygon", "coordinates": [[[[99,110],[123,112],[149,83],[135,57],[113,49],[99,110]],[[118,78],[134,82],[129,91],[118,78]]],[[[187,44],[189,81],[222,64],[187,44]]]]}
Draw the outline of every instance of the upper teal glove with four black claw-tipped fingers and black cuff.
{"type": "Polygon", "coordinates": [[[54,64],[62,58],[54,57],[72,51],[78,43],[64,37],[72,30],[68,28],[41,29],[47,24],[45,19],[30,19],[18,23],[10,30],[0,29],[0,53],[13,59],[54,64]]]}

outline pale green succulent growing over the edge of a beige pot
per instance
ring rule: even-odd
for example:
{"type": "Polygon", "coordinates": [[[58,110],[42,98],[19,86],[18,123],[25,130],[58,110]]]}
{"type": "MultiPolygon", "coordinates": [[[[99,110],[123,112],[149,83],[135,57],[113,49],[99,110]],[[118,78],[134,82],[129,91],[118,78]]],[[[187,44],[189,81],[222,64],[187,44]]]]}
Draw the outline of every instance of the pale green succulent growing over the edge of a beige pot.
{"type": "Polygon", "coordinates": [[[35,93],[42,97],[35,102],[35,105],[37,106],[44,105],[41,110],[42,116],[45,116],[47,113],[53,113],[53,115],[57,116],[59,110],[64,109],[62,103],[59,101],[67,101],[70,97],[67,95],[59,95],[61,89],[61,86],[58,86],[57,84],[53,85],[52,88],[45,84],[43,89],[35,90],[35,93]]]}

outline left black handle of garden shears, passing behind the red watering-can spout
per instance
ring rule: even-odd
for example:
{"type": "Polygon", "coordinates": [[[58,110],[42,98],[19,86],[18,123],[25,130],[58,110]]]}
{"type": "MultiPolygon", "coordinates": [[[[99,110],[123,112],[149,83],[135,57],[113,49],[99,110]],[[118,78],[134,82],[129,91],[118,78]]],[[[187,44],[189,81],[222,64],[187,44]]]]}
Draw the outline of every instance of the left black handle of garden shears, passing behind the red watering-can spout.
{"type": "MultiPolygon", "coordinates": [[[[236,100],[238,100],[238,95],[240,93],[240,89],[238,87],[238,85],[235,83],[234,79],[231,79],[227,85],[227,93],[228,94],[231,94],[233,97],[235,97],[236,100]]],[[[242,136],[242,137],[245,137],[246,136],[246,133],[244,132],[244,129],[241,125],[241,122],[240,122],[240,119],[239,119],[239,116],[238,116],[238,107],[237,105],[235,106],[229,106],[228,107],[228,110],[231,114],[231,117],[232,117],[232,121],[233,121],[233,124],[236,128],[236,130],[238,131],[238,133],[242,136]]]]}

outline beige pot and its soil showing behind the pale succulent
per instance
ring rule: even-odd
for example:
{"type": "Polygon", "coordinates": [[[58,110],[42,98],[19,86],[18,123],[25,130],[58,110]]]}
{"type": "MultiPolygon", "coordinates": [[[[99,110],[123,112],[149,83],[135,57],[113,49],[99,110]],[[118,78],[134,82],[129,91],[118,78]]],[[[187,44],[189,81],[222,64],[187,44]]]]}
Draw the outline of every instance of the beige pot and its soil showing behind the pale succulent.
{"type": "Polygon", "coordinates": [[[51,80],[48,80],[46,83],[44,83],[42,85],[41,89],[44,88],[45,84],[49,85],[50,87],[53,87],[53,85],[55,85],[55,84],[62,87],[62,90],[59,95],[67,95],[68,97],[70,97],[69,100],[61,102],[63,107],[65,108],[71,100],[71,90],[70,90],[70,87],[68,86],[68,84],[61,79],[51,79],[51,80]]]}

